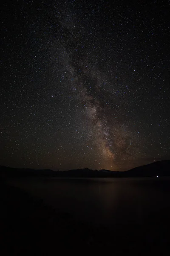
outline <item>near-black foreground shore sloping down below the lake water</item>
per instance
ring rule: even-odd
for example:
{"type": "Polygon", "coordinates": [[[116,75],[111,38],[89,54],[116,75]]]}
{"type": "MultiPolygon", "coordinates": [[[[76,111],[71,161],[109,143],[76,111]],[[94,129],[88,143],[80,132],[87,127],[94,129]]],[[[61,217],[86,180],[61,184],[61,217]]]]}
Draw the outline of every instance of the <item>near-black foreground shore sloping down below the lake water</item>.
{"type": "Polygon", "coordinates": [[[170,225],[164,220],[158,220],[157,227],[155,221],[145,227],[96,227],[5,182],[0,183],[0,203],[1,255],[52,255],[80,248],[96,252],[102,248],[116,255],[169,251],[170,225]]]}

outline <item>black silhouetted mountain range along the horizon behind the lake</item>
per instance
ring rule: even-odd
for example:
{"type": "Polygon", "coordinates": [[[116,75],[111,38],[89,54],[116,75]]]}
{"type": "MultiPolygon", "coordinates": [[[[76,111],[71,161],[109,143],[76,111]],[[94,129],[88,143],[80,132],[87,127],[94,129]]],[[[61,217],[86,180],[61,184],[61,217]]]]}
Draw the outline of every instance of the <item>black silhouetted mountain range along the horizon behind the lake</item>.
{"type": "Polygon", "coordinates": [[[68,171],[52,171],[50,169],[17,169],[0,166],[0,177],[165,177],[170,176],[170,160],[150,163],[125,172],[108,170],[76,169],[68,171]]]}

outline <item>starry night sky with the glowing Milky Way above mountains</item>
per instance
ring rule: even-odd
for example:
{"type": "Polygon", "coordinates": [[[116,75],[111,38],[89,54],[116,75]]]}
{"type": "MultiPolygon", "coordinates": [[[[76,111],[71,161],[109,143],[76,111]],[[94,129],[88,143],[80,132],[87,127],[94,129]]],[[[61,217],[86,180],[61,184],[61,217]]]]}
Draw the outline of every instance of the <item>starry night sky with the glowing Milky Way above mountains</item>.
{"type": "Polygon", "coordinates": [[[169,10],[3,1],[0,164],[124,171],[170,159],[169,10]]]}

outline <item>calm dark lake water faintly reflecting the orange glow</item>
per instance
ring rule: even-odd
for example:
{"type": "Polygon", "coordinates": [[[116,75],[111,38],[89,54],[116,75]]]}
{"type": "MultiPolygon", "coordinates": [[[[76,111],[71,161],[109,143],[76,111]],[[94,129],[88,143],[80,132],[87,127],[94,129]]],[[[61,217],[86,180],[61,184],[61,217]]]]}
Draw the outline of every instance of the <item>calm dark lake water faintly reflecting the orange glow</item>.
{"type": "Polygon", "coordinates": [[[27,179],[12,181],[73,218],[107,227],[170,216],[170,178],[27,179]]]}

